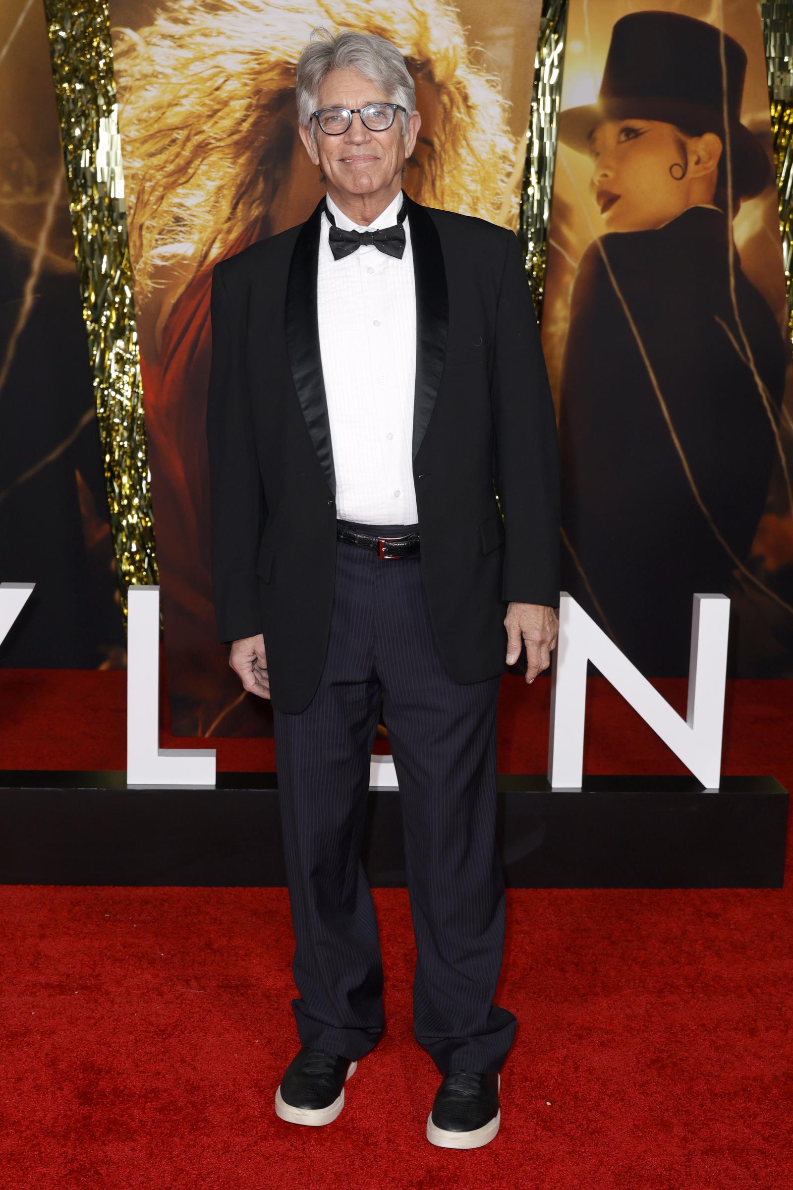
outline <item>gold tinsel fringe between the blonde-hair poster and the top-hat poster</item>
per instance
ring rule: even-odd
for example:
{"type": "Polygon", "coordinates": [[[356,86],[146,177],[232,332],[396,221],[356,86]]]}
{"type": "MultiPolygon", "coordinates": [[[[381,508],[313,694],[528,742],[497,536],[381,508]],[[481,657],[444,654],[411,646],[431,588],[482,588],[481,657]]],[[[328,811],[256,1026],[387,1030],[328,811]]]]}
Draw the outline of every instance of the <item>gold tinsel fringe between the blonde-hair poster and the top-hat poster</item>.
{"type": "Polygon", "coordinates": [[[545,296],[566,25],[567,0],[545,0],[534,58],[531,118],[517,227],[537,318],[545,296]]]}

